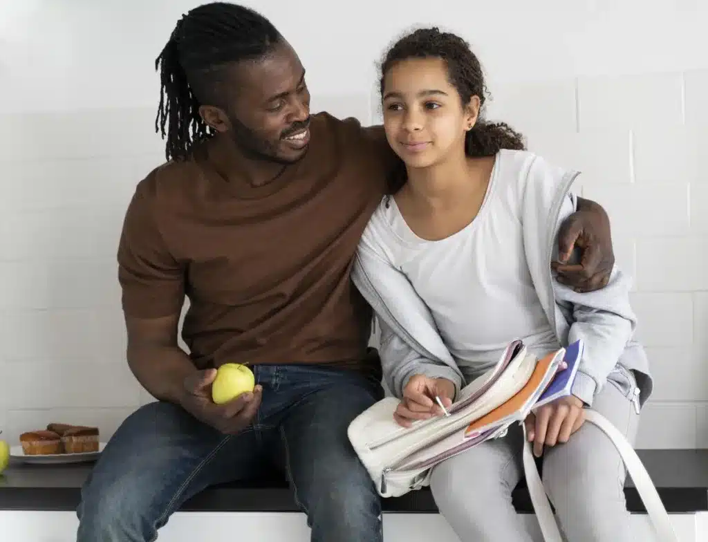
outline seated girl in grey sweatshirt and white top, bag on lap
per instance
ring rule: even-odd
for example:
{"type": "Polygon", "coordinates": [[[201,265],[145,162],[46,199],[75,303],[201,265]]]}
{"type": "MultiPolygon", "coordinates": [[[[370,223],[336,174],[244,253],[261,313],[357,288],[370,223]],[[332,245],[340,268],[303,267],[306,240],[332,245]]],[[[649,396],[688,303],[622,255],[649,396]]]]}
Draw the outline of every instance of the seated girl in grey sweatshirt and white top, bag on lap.
{"type": "MultiPolygon", "coordinates": [[[[547,262],[576,207],[576,175],[485,122],[484,91],[467,43],[437,28],[406,35],[382,63],[384,127],[404,168],[367,226],[353,277],[377,313],[396,420],[440,415],[433,398],[452,404],[515,338],[538,357],[583,339],[573,394],[530,415],[527,433],[567,539],[629,541],[622,459],[583,425],[592,407],[633,442],[651,393],[629,279],[615,269],[586,294],[554,279],[547,262]],[[440,344],[449,356],[431,354],[440,344]]],[[[512,427],[433,469],[435,502],[461,540],[530,542],[511,502],[522,447],[523,429],[512,427]]]]}

